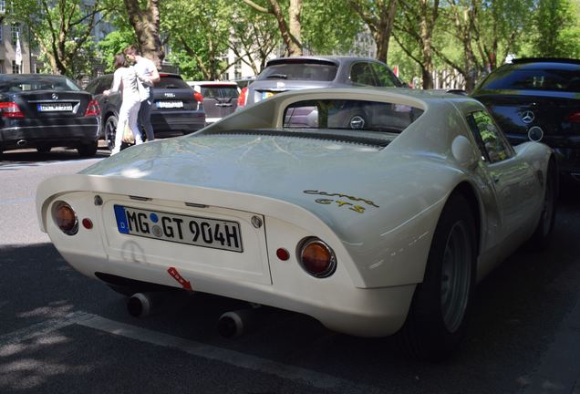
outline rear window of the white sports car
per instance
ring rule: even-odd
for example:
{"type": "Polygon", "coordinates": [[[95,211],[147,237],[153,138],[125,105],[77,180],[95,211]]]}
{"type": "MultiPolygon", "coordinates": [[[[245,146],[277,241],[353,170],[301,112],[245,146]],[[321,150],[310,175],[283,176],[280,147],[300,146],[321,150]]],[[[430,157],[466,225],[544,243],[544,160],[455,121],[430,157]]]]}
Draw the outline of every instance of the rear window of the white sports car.
{"type": "Polygon", "coordinates": [[[382,101],[305,100],[295,102],[285,109],[284,128],[399,133],[422,113],[422,109],[382,101]]]}

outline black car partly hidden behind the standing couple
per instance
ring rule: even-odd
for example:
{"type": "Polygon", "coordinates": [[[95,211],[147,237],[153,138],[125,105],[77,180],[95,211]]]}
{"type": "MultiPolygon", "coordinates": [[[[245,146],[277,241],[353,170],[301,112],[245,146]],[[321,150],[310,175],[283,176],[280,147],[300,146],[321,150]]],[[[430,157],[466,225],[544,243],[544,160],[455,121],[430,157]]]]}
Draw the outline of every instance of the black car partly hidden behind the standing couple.
{"type": "MultiPolygon", "coordinates": [[[[202,129],[205,126],[202,96],[196,95],[178,74],[160,73],[160,77],[161,81],[153,88],[154,104],[151,109],[155,138],[175,137],[202,129]]],[[[107,74],[95,78],[86,88],[98,100],[103,130],[100,137],[107,140],[109,149],[113,148],[115,141],[121,100],[120,93],[103,96],[103,91],[109,89],[112,83],[113,75],[107,74]]]]}

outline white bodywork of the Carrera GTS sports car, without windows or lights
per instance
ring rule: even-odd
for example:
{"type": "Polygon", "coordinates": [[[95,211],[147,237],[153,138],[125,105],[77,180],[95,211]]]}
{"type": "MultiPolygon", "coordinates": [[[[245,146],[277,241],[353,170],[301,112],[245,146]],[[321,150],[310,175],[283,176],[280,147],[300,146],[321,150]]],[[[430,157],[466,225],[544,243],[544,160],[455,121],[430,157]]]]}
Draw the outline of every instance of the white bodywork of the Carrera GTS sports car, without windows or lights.
{"type": "Polygon", "coordinates": [[[36,203],[41,227],[85,275],[95,272],[179,286],[305,313],[359,336],[395,333],[423,279],[440,212],[458,185],[480,214],[479,277],[527,239],[538,223],[551,150],[526,143],[498,164],[473,162],[464,117],[474,100],[400,89],[316,89],[281,94],[191,136],[124,150],[79,174],[45,181],[36,203]],[[281,127],[300,99],[371,99],[424,109],[387,147],[236,132],[281,127]],[[457,153],[460,151],[460,153],[457,153]],[[493,177],[498,177],[496,181],[493,177]],[[96,206],[99,195],[104,203],[96,206]],[[148,201],[130,200],[140,196],[148,201]],[[74,236],[57,229],[54,202],[66,201],[95,227],[74,236]],[[171,244],[118,232],[112,204],[202,215],[241,223],[244,253],[171,244]],[[206,208],[186,203],[207,205],[206,208]],[[261,229],[252,216],[264,220],[261,229]],[[298,264],[295,248],[316,236],[337,254],[337,271],[319,279],[298,264]],[[283,247],[288,261],[276,257],[283,247]]]}

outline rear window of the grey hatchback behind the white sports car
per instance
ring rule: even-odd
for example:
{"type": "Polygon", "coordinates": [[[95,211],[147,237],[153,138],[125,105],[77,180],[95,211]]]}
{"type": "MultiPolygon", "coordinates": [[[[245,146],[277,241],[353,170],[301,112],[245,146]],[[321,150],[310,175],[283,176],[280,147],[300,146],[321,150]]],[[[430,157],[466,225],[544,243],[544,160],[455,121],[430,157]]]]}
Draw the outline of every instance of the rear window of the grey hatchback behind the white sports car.
{"type": "Polygon", "coordinates": [[[286,63],[268,66],[258,76],[258,80],[316,80],[331,81],[337,76],[338,67],[328,64],[286,63]]]}

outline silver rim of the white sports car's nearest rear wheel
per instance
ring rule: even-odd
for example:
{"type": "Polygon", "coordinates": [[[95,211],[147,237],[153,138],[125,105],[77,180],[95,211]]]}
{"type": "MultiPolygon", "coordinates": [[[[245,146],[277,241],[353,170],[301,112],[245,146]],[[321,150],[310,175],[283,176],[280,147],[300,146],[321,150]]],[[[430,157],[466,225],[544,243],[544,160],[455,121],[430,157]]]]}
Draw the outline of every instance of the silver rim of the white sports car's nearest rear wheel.
{"type": "Polygon", "coordinates": [[[465,223],[455,223],[447,238],[441,266],[441,314],[451,333],[461,326],[471,293],[472,247],[465,223]]]}

